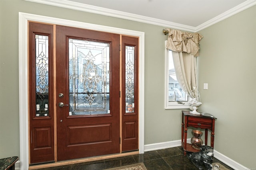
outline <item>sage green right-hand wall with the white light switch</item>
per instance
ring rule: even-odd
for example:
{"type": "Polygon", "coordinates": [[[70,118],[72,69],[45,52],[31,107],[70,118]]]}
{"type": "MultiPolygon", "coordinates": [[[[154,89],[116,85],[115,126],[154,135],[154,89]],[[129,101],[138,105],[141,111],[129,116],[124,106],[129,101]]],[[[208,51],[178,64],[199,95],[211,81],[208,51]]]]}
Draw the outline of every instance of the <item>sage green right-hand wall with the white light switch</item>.
{"type": "Polygon", "coordinates": [[[256,168],[255,16],[252,6],[200,31],[198,58],[200,109],[218,118],[214,149],[250,169],[256,168]]]}

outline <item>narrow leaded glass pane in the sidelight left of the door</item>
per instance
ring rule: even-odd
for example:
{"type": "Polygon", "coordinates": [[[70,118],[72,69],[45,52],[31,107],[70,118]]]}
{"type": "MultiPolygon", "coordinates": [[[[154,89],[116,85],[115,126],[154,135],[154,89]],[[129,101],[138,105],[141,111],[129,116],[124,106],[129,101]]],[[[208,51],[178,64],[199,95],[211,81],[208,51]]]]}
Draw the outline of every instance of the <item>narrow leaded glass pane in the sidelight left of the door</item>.
{"type": "Polygon", "coordinates": [[[48,36],[35,36],[36,117],[48,116],[48,36]]]}

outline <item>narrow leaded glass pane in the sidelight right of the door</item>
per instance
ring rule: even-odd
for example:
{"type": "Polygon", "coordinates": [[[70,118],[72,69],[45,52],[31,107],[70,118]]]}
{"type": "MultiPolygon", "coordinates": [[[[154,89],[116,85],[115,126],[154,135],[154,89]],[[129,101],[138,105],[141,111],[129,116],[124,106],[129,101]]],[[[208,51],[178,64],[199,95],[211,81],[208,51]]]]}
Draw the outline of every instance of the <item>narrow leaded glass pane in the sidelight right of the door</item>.
{"type": "Polygon", "coordinates": [[[125,47],[125,102],[126,113],[134,112],[134,47],[125,47]]]}

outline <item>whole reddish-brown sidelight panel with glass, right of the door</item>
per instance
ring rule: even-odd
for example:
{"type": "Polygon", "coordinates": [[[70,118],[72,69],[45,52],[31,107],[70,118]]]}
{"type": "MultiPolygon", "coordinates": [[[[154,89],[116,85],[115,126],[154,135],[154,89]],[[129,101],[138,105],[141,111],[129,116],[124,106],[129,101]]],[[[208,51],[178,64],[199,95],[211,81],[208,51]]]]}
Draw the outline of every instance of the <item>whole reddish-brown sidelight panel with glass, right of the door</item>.
{"type": "Polygon", "coordinates": [[[122,152],[138,150],[138,37],[122,36],[122,152]]]}

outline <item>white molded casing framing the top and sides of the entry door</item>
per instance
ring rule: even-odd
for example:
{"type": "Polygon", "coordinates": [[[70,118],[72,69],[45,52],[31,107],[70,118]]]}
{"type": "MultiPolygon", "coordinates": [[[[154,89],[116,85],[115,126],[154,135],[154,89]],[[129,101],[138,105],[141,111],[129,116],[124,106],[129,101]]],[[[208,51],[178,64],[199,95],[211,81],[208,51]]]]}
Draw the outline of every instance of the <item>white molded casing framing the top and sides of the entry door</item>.
{"type": "Polygon", "coordinates": [[[144,32],[19,12],[20,170],[29,167],[28,137],[28,21],[58,24],[139,37],[139,153],[144,153],[144,32]]]}

